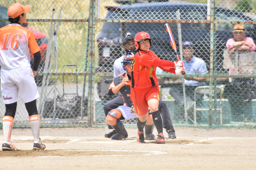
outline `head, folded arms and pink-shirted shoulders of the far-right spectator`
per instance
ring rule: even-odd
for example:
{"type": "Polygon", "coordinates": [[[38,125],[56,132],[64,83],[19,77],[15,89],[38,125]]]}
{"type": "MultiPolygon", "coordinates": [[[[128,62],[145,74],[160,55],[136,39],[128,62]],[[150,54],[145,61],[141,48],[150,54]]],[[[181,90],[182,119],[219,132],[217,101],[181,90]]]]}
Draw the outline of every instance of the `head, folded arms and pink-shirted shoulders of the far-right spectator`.
{"type": "Polygon", "coordinates": [[[236,49],[250,50],[250,52],[255,51],[256,46],[253,39],[245,37],[246,31],[243,24],[236,24],[232,33],[234,38],[228,39],[226,43],[227,49],[229,49],[230,53],[234,53],[236,49]]]}

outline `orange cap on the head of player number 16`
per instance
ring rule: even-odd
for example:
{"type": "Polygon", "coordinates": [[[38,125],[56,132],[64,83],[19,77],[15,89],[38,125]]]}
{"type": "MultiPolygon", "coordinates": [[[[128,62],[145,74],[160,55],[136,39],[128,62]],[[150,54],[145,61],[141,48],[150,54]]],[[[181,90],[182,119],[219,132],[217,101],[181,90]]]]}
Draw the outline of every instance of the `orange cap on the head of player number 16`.
{"type": "Polygon", "coordinates": [[[9,18],[17,18],[21,14],[27,13],[29,11],[30,11],[29,5],[23,6],[20,3],[16,3],[16,4],[12,4],[8,8],[8,16],[9,16],[9,18]]]}

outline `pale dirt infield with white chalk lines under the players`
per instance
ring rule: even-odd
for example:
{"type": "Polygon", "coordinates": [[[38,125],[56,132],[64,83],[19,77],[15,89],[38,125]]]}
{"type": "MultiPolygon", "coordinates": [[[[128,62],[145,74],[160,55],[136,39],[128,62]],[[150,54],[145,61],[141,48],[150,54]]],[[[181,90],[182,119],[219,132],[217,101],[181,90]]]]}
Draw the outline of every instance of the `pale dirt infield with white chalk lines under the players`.
{"type": "Polygon", "coordinates": [[[255,129],[176,128],[177,139],[166,144],[137,143],[136,129],[127,131],[128,139],[113,141],[105,128],[41,128],[46,149],[33,151],[31,130],[13,129],[12,143],[22,150],[1,150],[0,170],[256,169],[255,129]]]}

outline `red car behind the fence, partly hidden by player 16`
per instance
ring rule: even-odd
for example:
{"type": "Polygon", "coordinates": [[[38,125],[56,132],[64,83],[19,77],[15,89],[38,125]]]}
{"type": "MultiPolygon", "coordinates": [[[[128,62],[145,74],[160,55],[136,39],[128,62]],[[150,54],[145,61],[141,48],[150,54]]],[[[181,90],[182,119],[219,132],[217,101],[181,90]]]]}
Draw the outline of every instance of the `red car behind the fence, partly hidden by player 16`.
{"type": "MultiPolygon", "coordinates": [[[[3,6],[0,6],[0,18],[8,19],[7,9],[3,6]]],[[[9,24],[9,21],[6,21],[6,22],[5,21],[0,21],[0,28],[6,26],[8,24],[9,24]]],[[[21,25],[23,27],[25,27],[26,29],[32,31],[32,33],[35,36],[38,47],[41,50],[40,51],[40,53],[41,53],[41,63],[38,67],[38,71],[43,72],[44,71],[44,62],[45,62],[45,57],[46,57],[46,50],[47,50],[47,46],[48,46],[48,44],[47,44],[48,39],[47,39],[47,37],[44,33],[41,33],[39,31],[36,31],[35,29],[32,29],[32,28],[28,27],[28,22],[27,21],[25,23],[22,23],[21,25]]],[[[34,61],[34,55],[32,53],[30,53],[30,63],[32,63],[33,61],[34,61]]],[[[42,79],[43,79],[43,76],[36,76],[35,77],[37,86],[42,85],[42,79]]]]}

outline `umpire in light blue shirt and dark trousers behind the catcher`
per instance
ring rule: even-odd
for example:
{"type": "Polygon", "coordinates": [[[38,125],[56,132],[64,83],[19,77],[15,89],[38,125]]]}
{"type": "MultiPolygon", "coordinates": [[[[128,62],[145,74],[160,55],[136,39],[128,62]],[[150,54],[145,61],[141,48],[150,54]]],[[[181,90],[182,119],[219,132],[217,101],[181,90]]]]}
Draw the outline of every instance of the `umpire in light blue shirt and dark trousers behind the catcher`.
{"type": "MultiPolygon", "coordinates": [[[[128,35],[124,38],[123,42],[122,42],[122,47],[125,51],[129,51],[131,52],[131,48],[126,49],[125,44],[128,42],[134,42],[134,36],[132,35],[128,35]]],[[[133,50],[135,51],[135,46],[133,48],[133,50]]],[[[132,52],[134,52],[132,51],[132,52]]],[[[124,70],[123,66],[122,66],[122,61],[123,61],[123,57],[120,57],[118,59],[116,59],[116,61],[114,62],[114,77],[118,76],[118,74],[121,73],[126,73],[126,71],[124,70]]],[[[118,106],[122,106],[124,105],[124,100],[122,99],[122,96],[118,96],[116,98],[114,98],[113,100],[110,100],[108,103],[106,103],[104,105],[104,112],[105,115],[108,115],[108,112],[112,109],[116,109],[118,106]]],[[[168,138],[170,139],[176,139],[176,134],[175,134],[175,130],[174,127],[172,126],[172,120],[170,117],[170,113],[166,107],[166,104],[162,101],[162,99],[160,98],[160,104],[158,106],[158,109],[160,111],[160,114],[162,116],[162,120],[163,120],[163,127],[166,129],[166,132],[168,133],[168,138]]],[[[146,128],[146,127],[145,127],[146,128]]],[[[108,129],[113,129],[110,125],[108,125],[108,129]]],[[[112,135],[116,134],[116,131],[111,131],[110,133],[106,133],[104,136],[107,138],[112,137],[112,135]]]]}

